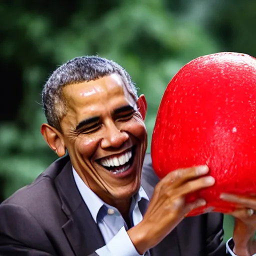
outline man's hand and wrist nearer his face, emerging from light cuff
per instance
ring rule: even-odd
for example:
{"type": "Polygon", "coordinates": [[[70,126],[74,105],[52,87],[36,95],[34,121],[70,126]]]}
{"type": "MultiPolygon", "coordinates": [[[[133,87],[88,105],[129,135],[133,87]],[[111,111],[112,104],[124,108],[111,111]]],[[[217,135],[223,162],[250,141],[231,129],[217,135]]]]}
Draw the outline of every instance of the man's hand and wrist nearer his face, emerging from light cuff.
{"type": "Polygon", "coordinates": [[[192,209],[206,204],[198,199],[185,202],[188,193],[214,184],[205,165],[168,173],[155,186],[143,220],[127,231],[140,254],[158,244],[192,209]]]}

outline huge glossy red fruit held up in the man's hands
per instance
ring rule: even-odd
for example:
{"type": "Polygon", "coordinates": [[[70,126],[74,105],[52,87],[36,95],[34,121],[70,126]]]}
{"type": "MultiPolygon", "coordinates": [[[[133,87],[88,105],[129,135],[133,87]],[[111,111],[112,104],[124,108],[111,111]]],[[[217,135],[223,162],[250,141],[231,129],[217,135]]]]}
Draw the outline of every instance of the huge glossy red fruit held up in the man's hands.
{"type": "Polygon", "coordinates": [[[216,182],[187,196],[201,197],[205,208],[229,212],[235,204],[221,192],[256,193],[256,59],[220,52],[184,65],[162,97],[151,143],[159,178],[182,167],[207,164],[216,182]]]}

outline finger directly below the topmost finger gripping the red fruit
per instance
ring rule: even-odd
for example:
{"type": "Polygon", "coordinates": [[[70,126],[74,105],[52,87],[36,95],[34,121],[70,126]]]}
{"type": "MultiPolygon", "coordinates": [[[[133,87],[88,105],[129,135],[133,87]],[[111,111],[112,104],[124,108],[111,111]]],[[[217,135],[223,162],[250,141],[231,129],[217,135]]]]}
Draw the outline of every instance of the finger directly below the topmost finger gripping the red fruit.
{"type": "Polygon", "coordinates": [[[197,191],[201,188],[212,186],[214,183],[215,183],[215,179],[212,176],[205,176],[205,177],[197,178],[194,180],[190,180],[175,189],[176,195],[184,196],[191,192],[197,191]]]}

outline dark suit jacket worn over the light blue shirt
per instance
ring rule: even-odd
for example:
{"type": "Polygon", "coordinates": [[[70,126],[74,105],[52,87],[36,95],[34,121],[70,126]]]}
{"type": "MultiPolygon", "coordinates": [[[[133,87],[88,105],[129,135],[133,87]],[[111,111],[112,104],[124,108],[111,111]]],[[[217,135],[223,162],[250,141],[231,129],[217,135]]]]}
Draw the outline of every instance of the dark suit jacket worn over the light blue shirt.
{"type": "MultiPolygon", "coordinates": [[[[149,198],[157,181],[146,154],[141,183],[149,198]]],[[[221,214],[185,218],[150,250],[151,256],[222,256],[222,236],[221,214]]],[[[68,156],[0,204],[1,256],[95,256],[104,245],[77,190],[68,156]]]]}

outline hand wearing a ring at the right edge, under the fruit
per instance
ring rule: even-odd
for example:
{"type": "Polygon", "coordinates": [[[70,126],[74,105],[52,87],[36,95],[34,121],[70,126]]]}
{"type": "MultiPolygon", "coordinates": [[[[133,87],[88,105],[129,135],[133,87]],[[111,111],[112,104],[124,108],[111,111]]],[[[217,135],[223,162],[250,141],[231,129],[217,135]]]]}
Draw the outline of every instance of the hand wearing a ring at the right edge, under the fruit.
{"type": "Polygon", "coordinates": [[[235,217],[233,231],[234,248],[237,255],[252,255],[256,253],[256,243],[253,240],[256,231],[256,196],[249,197],[233,194],[221,194],[220,198],[229,202],[237,203],[237,209],[228,214],[235,217]],[[253,214],[254,213],[254,214],[253,214]]]}

